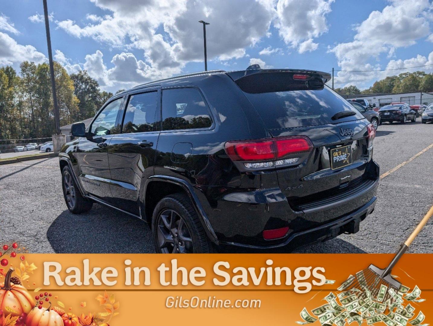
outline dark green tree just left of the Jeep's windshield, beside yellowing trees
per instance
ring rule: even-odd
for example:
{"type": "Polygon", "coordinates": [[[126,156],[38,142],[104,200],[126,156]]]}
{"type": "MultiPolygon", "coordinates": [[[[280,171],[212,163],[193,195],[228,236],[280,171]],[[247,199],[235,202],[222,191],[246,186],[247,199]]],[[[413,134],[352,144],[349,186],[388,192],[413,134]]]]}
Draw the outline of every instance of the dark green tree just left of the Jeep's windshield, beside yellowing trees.
{"type": "Polygon", "coordinates": [[[77,74],[71,74],[74,82],[74,94],[78,98],[77,120],[84,120],[95,115],[99,108],[99,84],[89,76],[87,71],[82,70],[77,74]]]}

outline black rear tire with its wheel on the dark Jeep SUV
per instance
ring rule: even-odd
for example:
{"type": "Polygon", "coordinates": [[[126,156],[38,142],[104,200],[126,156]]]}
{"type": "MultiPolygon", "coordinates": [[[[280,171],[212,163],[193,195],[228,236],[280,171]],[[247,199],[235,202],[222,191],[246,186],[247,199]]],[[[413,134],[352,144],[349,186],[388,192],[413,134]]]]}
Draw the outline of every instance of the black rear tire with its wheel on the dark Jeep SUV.
{"type": "Polygon", "coordinates": [[[185,194],[169,195],[156,204],[152,234],[157,253],[213,252],[191,200],[185,194]]]}

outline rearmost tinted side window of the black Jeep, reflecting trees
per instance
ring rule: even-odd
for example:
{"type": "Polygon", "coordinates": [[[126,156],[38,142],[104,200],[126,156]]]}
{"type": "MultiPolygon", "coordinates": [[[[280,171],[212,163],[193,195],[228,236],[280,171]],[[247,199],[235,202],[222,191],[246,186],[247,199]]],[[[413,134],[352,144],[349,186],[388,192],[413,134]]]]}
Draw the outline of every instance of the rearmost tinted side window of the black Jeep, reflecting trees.
{"type": "Polygon", "coordinates": [[[162,91],[162,130],[209,128],[209,109],[195,88],[162,91]]]}

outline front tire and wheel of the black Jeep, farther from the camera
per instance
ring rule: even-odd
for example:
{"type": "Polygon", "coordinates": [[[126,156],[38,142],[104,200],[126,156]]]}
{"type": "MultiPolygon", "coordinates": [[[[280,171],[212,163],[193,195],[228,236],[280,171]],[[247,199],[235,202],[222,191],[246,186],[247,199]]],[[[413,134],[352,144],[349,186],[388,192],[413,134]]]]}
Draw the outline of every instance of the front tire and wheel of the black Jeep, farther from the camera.
{"type": "Polygon", "coordinates": [[[65,166],[61,171],[61,185],[66,206],[71,213],[81,214],[91,210],[93,201],[81,195],[69,166],[65,166]]]}

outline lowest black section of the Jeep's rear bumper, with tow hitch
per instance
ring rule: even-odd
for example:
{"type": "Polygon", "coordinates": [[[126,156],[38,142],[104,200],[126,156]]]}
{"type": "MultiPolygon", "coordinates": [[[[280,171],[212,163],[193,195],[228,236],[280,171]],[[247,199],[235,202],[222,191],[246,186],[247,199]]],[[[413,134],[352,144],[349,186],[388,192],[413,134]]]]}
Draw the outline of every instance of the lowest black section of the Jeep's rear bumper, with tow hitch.
{"type": "Polygon", "coordinates": [[[343,233],[356,233],[359,231],[359,223],[361,223],[370,213],[375,209],[377,197],[365,203],[362,207],[355,210],[346,216],[333,220],[332,222],[325,223],[313,229],[308,229],[302,232],[292,233],[284,242],[273,245],[246,245],[236,242],[223,242],[220,241],[220,248],[224,250],[229,247],[237,247],[245,251],[259,251],[259,252],[275,252],[275,251],[290,251],[302,245],[317,241],[326,241],[343,233]]]}

